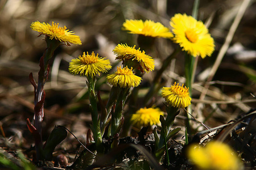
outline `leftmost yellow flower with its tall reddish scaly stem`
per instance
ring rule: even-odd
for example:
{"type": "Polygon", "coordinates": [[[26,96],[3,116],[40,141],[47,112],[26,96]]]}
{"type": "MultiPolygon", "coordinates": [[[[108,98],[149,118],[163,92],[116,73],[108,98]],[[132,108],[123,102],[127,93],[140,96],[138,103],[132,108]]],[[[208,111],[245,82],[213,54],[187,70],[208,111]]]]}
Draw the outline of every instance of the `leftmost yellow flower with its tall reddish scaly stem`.
{"type": "MultiPolygon", "coordinates": [[[[44,84],[48,79],[49,75],[49,59],[52,58],[56,48],[64,42],[66,45],[69,43],[81,44],[79,36],[72,35],[72,31],[66,30],[66,27],[58,27],[59,24],[49,25],[47,23],[34,22],[31,24],[31,29],[38,31],[40,35],[45,35],[47,48],[44,51],[43,56],[40,58],[39,62],[39,72],[38,72],[38,83],[35,82],[35,79],[30,73],[29,78],[32,86],[34,87],[34,125],[30,123],[30,120],[27,118],[28,130],[35,139],[35,148],[36,148],[36,161],[47,159],[43,148],[42,141],[42,121],[44,117],[44,100],[46,99],[46,93],[44,92],[44,84]]],[[[53,142],[54,143],[54,142],[53,142]]],[[[55,143],[56,144],[56,143],[55,143]]],[[[58,144],[58,143],[57,143],[58,144]]],[[[57,145],[56,144],[56,145],[57,145]]],[[[53,147],[52,147],[53,148],[53,147]]],[[[51,156],[49,157],[51,158],[51,156]]]]}

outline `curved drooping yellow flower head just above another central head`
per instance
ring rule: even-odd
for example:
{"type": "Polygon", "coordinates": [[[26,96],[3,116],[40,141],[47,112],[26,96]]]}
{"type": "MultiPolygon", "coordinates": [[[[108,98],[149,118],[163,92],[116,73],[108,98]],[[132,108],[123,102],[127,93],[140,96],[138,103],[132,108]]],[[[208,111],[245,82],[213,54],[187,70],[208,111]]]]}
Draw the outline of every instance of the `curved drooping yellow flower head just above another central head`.
{"type": "Polygon", "coordinates": [[[131,59],[138,61],[143,71],[147,73],[155,69],[155,61],[152,57],[145,54],[144,51],[140,51],[139,49],[135,49],[135,45],[133,47],[128,46],[127,44],[118,44],[113,49],[114,54],[117,54],[115,59],[131,59]]]}

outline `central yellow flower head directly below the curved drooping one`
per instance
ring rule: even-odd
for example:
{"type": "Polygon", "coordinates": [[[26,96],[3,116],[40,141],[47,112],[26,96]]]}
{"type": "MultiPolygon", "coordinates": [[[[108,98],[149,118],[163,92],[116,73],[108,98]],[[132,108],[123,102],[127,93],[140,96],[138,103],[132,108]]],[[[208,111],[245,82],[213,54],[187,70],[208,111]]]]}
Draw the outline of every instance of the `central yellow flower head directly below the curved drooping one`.
{"type": "Polygon", "coordinates": [[[141,83],[142,78],[133,74],[133,67],[128,69],[128,67],[124,67],[121,69],[121,66],[117,67],[117,71],[114,74],[109,74],[107,80],[114,87],[121,88],[130,88],[137,87],[141,83]]]}

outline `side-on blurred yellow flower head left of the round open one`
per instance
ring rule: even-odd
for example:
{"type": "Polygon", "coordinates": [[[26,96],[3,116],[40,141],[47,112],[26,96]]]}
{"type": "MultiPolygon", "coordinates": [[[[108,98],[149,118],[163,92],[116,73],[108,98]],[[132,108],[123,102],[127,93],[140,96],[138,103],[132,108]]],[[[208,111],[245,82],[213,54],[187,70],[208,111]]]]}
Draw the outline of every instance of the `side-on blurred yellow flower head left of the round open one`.
{"type": "Polygon", "coordinates": [[[151,20],[146,20],[145,22],[142,20],[125,20],[122,29],[130,31],[129,33],[151,37],[163,37],[169,39],[173,36],[170,29],[164,27],[164,25],[159,22],[155,23],[151,20]]]}

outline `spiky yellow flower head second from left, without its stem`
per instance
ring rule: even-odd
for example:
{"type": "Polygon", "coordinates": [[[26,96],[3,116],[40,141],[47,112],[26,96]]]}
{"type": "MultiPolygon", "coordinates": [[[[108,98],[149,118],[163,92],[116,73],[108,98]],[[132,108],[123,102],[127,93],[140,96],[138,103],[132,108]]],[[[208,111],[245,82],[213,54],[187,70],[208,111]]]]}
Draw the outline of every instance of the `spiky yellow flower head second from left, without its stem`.
{"type": "Polygon", "coordinates": [[[96,76],[100,75],[100,72],[106,73],[110,70],[112,66],[110,65],[109,59],[95,56],[94,52],[91,55],[85,55],[85,52],[79,58],[72,59],[69,63],[68,71],[71,74],[80,74],[85,76],[96,76]]]}

